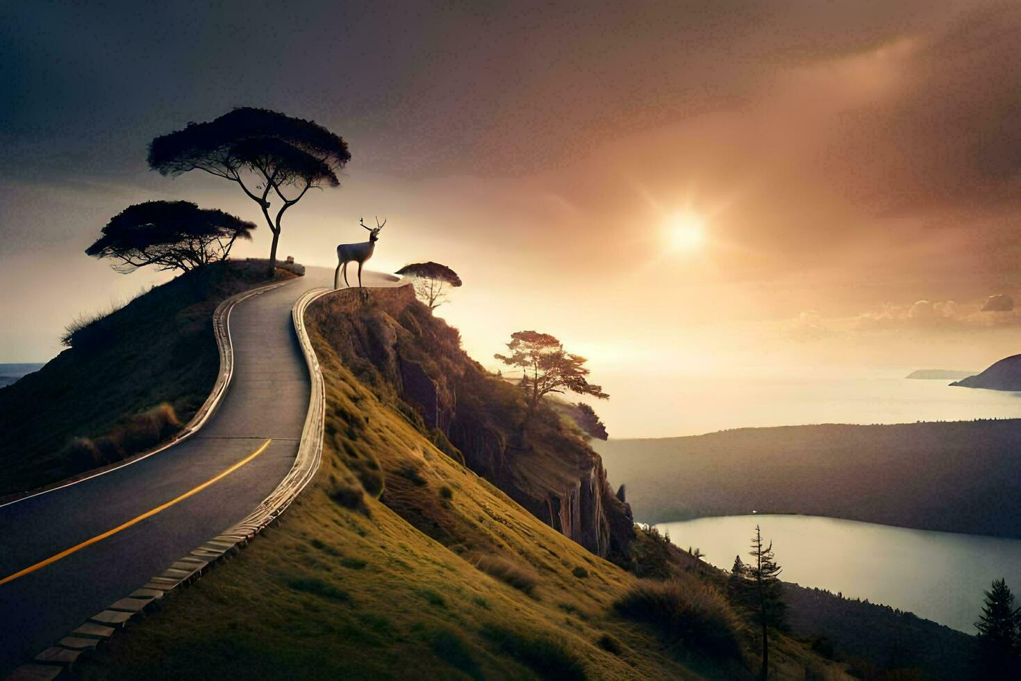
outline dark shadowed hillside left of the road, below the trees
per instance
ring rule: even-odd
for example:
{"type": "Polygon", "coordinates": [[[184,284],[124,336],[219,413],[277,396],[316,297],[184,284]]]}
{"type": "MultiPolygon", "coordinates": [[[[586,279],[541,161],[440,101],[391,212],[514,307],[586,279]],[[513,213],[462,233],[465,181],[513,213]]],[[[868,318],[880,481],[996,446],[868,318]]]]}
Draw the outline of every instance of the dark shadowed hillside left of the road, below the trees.
{"type": "Polygon", "coordinates": [[[119,460],[169,438],[215,382],[216,305],[264,283],[264,267],[257,263],[215,263],[79,324],[72,347],[0,388],[0,496],[119,460]]]}

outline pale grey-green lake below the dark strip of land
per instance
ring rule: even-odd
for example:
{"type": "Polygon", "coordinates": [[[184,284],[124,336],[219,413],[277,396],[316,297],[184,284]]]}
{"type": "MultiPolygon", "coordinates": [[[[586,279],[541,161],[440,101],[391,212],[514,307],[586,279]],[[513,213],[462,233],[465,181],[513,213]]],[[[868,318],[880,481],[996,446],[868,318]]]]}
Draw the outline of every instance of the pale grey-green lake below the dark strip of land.
{"type": "Polygon", "coordinates": [[[657,527],[681,548],[697,547],[706,561],[730,570],[735,555],[748,561],[757,524],[773,542],[784,581],[911,611],[969,634],[993,579],[1021,590],[1018,539],[813,516],[700,518],[657,527]]]}

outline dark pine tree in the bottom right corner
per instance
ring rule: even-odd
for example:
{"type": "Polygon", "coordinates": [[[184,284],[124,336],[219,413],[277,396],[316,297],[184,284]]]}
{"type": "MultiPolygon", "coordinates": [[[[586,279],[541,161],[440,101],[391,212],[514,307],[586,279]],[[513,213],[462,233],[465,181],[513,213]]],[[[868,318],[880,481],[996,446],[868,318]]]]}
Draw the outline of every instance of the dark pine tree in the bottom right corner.
{"type": "Polygon", "coordinates": [[[1006,580],[993,580],[985,594],[978,629],[978,668],[983,678],[1011,678],[1018,672],[1021,609],[1014,607],[1014,594],[1006,580]]]}

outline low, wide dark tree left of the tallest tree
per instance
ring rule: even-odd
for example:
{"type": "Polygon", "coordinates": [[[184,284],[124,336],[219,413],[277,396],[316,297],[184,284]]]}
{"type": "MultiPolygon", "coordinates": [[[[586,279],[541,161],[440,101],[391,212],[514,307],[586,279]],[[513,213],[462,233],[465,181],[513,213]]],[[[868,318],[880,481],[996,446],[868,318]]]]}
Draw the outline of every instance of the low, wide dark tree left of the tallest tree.
{"type": "Polygon", "coordinates": [[[237,239],[251,239],[253,223],[191,201],[146,201],[110,218],[86,254],[110,258],[119,273],[145,265],[187,272],[226,259],[237,239]]]}

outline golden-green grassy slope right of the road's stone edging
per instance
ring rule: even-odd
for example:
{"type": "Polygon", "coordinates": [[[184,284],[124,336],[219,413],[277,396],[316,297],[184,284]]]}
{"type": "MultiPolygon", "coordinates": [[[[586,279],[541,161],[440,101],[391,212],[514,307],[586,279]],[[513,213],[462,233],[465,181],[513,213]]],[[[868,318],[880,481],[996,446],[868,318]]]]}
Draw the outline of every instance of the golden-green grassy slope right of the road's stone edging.
{"type": "MultiPolygon", "coordinates": [[[[645,533],[631,550],[650,581],[597,557],[438,449],[312,335],[327,389],[312,484],[83,677],[753,678],[750,628],[697,566],[645,533]],[[670,576],[681,633],[615,606],[670,576]]],[[[776,678],[843,676],[784,637],[774,655],[776,678]]]]}

